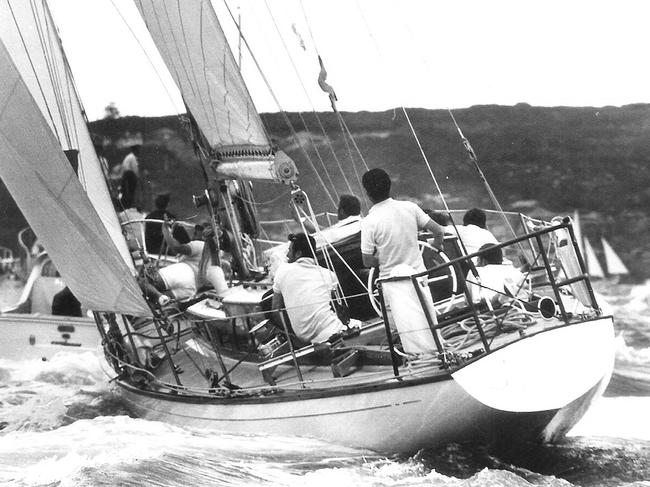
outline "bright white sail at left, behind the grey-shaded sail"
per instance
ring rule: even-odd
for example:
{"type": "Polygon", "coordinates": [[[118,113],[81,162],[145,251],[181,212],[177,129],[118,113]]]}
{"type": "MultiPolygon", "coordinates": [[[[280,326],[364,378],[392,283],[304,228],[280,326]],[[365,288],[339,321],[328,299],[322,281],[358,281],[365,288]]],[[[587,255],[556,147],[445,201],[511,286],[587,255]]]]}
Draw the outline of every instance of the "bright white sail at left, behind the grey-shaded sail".
{"type": "Polygon", "coordinates": [[[63,150],[79,151],[78,176],[124,262],[133,263],[45,0],[0,3],[0,33],[63,150]]]}

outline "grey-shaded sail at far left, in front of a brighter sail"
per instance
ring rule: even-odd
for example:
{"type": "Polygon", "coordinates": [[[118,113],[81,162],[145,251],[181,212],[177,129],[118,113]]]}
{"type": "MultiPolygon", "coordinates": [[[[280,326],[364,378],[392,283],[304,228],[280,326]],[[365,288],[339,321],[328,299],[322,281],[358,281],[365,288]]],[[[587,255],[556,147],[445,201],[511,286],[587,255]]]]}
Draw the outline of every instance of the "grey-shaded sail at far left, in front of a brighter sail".
{"type": "Polygon", "coordinates": [[[0,177],[70,290],[93,310],[147,316],[130,269],[0,42],[0,177]]]}

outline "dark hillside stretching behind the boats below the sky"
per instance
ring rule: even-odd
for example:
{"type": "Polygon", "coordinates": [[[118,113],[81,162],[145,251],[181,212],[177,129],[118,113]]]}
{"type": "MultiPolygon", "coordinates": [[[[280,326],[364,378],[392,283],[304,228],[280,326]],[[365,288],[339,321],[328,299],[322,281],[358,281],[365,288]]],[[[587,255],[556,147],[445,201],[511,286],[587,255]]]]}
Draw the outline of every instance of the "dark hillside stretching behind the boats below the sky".
{"type": "MultiPolygon", "coordinates": [[[[450,207],[491,207],[449,114],[424,109],[409,113],[450,207]]],[[[505,209],[544,215],[579,209],[586,235],[606,235],[636,278],[650,277],[650,105],[540,108],[520,104],[476,106],[454,113],[505,209]]],[[[342,137],[336,117],[331,113],[319,114],[318,120],[314,114],[287,116],[297,136],[281,114],[265,114],[263,119],[277,145],[296,161],[299,184],[315,208],[332,209],[332,205],[309,160],[325,184],[331,188],[333,183],[339,193],[349,192],[340,164],[353,192],[360,194],[355,170],[360,175],[365,168],[357,156],[351,163],[354,148],[342,137]],[[297,139],[307,142],[306,150],[297,139]]],[[[344,118],[365,163],[384,167],[394,176],[395,195],[440,207],[435,185],[400,111],[345,113],[344,118]]],[[[141,136],[142,166],[150,191],[170,190],[177,213],[196,213],[190,195],[201,191],[202,174],[177,117],[99,120],[91,124],[91,131],[103,140],[111,164],[121,161],[129,140],[141,136]]],[[[0,244],[15,247],[16,229],[23,223],[2,190],[0,244]]],[[[278,199],[287,191],[275,185],[256,187],[259,202],[273,200],[261,207],[263,219],[288,216],[287,198],[278,199]]]]}

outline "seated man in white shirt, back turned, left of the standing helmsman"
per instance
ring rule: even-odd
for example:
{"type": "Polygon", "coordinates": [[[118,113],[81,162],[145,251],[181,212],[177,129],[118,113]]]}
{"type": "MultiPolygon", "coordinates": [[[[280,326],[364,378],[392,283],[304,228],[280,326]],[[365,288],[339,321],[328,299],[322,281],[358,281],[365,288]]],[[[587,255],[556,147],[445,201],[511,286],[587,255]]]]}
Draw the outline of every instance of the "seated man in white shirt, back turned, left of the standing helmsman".
{"type": "Polygon", "coordinates": [[[315,248],[312,236],[289,235],[289,262],[278,268],[273,279],[272,309],[276,320],[281,322],[278,315],[286,308],[296,336],[311,343],[325,342],[345,329],[330,304],[336,274],[318,265],[315,248]]]}

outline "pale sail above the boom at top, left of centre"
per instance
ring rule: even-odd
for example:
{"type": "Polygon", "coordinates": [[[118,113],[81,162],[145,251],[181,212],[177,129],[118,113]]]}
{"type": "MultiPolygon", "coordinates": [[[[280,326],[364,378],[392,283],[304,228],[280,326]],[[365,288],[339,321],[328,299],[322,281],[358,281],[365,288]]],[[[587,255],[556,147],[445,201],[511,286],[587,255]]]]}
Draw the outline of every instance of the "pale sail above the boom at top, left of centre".
{"type": "Polygon", "coordinates": [[[210,146],[247,155],[271,145],[209,0],[134,0],[210,146]]]}

